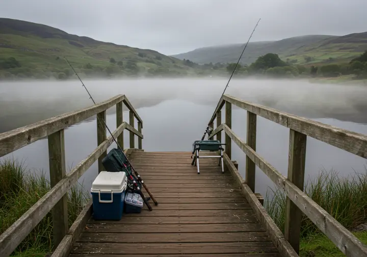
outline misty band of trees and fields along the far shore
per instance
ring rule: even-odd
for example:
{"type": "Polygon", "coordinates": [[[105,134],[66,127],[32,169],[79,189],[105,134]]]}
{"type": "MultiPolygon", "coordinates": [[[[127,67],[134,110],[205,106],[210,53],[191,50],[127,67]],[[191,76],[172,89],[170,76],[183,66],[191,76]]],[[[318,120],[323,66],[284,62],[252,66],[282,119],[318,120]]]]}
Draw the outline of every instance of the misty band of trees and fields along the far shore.
{"type": "MultiPolygon", "coordinates": [[[[59,57],[57,57],[59,61],[59,57]]],[[[235,63],[216,63],[199,65],[190,60],[182,62],[182,69],[172,70],[169,67],[159,70],[146,68],[129,61],[126,65],[122,61],[110,59],[108,67],[93,66],[90,63],[75,65],[75,70],[82,79],[123,79],[123,78],[227,78],[232,73],[235,63]],[[133,68],[134,67],[134,68],[133,68]]],[[[73,64],[72,64],[73,65],[73,64]]],[[[73,66],[74,66],[73,65],[73,66]]],[[[234,78],[244,79],[256,76],[268,79],[308,79],[310,82],[343,83],[353,82],[366,84],[367,82],[367,50],[348,63],[323,63],[314,65],[294,65],[289,60],[283,61],[277,54],[268,53],[260,56],[251,65],[238,64],[234,78]]],[[[75,76],[71,68],[53,70],[34,70],[22,67],[14,57],[0,58],[0,81],[14,80],[56,80],[65,81],[75,76]]]]}

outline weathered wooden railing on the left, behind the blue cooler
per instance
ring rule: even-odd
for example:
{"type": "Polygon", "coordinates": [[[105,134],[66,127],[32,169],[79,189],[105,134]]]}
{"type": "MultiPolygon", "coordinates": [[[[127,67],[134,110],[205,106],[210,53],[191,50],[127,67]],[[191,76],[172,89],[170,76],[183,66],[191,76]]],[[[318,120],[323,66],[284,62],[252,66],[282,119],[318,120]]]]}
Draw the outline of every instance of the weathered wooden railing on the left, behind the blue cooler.
{"type": "MultiPolygon", "coordinates": [[[[143,121],[125,95],[117,95],[100,104],[52,117],[34,124],[20,127],[0,134],[0,157],[7,155],[25,145],[37,140],[48,138],[48,157],[51,189],[41,197],[27,212],[15,221],[2,235],[0,235],[0,256],[9,256],[14,249],[29,235],[32,229],[51,210],[53,218],[54,247],[56,248],[66,234],[73,235],[80,230],[80,219],[86,217],[81,214],[68,228],[67,195],[68,190],[77,182],[88,168],[98,160],[98,172],[103,170],[102,159],[107,154],[107,148],[113,138],[107,137],[106,110],[116,105],[116,127],[112,132],[123,149],[123,131],[130,132],[130,148],[135,148],[134,135],[139,137],[139,149],[142,149],[141,133],[143,121]],[[123,122],[123,104],[129,110],[129,124],[123,122]],[[65,170],[64,130],[93,115],[97,115],[97,148],[90,155],[76,165],[69,173],[65,170]],[[134,128],[134,117],[138,120],[138,130],[134,128]],[[72,230],[72,232],[70,232],[72,230]]],[[[89,204],[90,207],[90,204],[89,204]]],[[[82,212],[89,212],[86,207],[82,212]]],[[[58,247],[62,249],[63,247],[58,247]]]]}

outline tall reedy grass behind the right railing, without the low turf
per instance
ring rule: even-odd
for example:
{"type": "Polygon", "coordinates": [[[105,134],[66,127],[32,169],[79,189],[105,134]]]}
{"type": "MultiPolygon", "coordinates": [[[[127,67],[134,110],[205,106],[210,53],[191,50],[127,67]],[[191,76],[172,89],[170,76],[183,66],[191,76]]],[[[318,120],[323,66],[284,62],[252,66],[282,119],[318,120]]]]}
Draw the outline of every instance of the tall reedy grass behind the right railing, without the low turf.
{"type": "MultiPolygon", "coordinates": [[[[367,170],[366,170],[367,172],[367,170]]],[[[265,209],[284,233],[285,194],[279,189],[267,192],[265,209]],[[273,197],[271,196],[273,195],[273,197]]],[[[322,170],[314,179],[308,179],[305,193],[333,218],[352,230],[367,222],[367,175],[339,177],[334,170],[322,170]]],[[[321,233],[305,215],[302,218],[301,237],[321,233]]]]}

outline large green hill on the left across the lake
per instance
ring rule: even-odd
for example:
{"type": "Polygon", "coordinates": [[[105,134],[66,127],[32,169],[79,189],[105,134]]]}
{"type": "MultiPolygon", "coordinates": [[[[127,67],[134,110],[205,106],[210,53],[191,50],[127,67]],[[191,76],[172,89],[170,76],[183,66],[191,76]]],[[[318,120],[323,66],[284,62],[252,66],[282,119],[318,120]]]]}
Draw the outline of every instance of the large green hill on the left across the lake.
{"type": "Polygon", "coordinates": [[[84,76],[195,73],[195,69],[181,60],[154,50],[101,42],[43,24],[0,18],[0,78],[67,78],[72,73],[64,56],[84,76]]]}

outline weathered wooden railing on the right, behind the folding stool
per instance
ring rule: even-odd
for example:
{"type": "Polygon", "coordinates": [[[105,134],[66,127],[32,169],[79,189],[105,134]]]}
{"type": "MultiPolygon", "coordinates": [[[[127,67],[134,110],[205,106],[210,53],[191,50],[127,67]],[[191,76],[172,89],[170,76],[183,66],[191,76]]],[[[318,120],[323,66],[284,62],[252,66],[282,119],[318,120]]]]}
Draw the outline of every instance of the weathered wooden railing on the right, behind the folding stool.
{"type": "Polygon", "coordinates": [[[344,149],[367,159],[367,136],[339,129],[317,121],[283,113],[265,106],[252,104],[230,95],[224,95],[210,121],[217,128],[209,138],[217,135],[221,140],[221,131],[225,132],[224,160],[235,175],[249,203],[259,215],[278,249],[287,255],[299,253],[302,212],[347,256],[367,256],[367,248],[348,229],[337,222],[329,213],[310,199],[304,192],[304,172],[307,136],[344,149]],[[242,141],[231,130],[232,104],[247,110],[247,141],[242,141]],[[225,123],[221,122],[221,109],[225,105],[225,123]],[[290,129],[288,177],[283,176],[271,164],[256,152],[256,116],[259,115],[290,129]],[[231,140],[246,154],[246,177],[239,174],[231,158],[231,140]],[[255,165],[286,194],[286,215],[284,235],[274,221],[258,204],[255,192],[255,165]],[[290,247],[291,246],[291,247],[290,247]],[[293,252],[293,253],[292,253],[293,252]]]}

